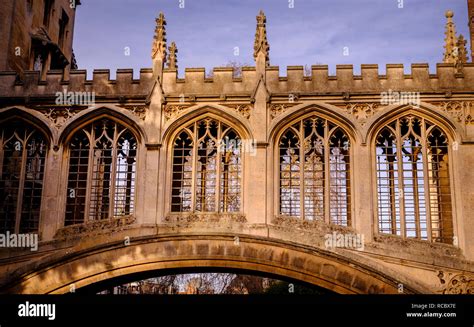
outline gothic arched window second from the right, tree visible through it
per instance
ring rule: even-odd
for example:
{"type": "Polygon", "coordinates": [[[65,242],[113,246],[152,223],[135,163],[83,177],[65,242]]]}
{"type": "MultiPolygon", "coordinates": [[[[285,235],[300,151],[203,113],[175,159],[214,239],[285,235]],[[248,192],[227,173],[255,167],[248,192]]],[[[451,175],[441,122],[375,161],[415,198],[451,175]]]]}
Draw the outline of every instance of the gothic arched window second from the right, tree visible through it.
{"type": "Polygon", "coordinates": [[[351,224],[350,141],[316,116],[288,127],[279,141],[280,215],[351,224]]]}

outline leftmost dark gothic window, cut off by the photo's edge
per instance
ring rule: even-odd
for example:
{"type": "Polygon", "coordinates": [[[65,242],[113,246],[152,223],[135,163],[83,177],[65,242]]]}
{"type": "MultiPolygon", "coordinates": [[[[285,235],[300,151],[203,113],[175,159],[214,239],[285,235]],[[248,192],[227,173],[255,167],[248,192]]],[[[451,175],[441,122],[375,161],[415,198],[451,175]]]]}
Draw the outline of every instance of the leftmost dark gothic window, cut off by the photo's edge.
{"type": "Polygon", "coordinates": [[[22,121],[0,126],[0,232],[37,232],[47,141],[22,121]]]}

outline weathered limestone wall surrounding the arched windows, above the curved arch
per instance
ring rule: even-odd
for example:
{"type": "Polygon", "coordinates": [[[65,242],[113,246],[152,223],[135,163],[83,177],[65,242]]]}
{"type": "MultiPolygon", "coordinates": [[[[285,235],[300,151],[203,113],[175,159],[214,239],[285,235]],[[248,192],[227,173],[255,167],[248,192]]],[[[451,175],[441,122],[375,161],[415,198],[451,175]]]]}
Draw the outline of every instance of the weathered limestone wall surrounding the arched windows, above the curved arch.
{"type": "MultiPolygon", "coordinates": [[[[130,235],[137,238],[154,234],[181,237],[225,233],[321,249],[324,233],[333,227],[278,220],[275,152],[278,132],[284,126],[304,114],[318,113],[344,126],[351,137],[352,226],[341,231],[363,234],[366,247],[364,251],[340,254],[346,259],[357,257],[358,264],[373,264],[382,272],[386,267],[385,272],[400,273],[402,280],[412,278],[415,285],[424,285],[434,293],[443,291],[444,284],[437,277],[440,271],[452,278],[474,271],[474,240],[470,237],[474,233],[473,64],[466,64],[463,74],[456,73],[453,65],[440,64],[435,75],[429,74],[425,64],[412,65],[410,75],[404,74],[402,65],[388,65],[386,75],[378,73],[377,65],[364,65],[361,76],[354,76],[350,65],[338,66],[336,76],[328,75],[327,66],[313,66],[312,76],[303,76],[300,66],[288,67],[285,77],[278,75],[277,67],[263,67],[260,63],[257,67],[244,68],[241,78],[233,78],[229,68],[216,68],[209,79],[201,68],[186,69],[184,79],[177,78],[173,69],[165,69],[159,79],[155,79],[152,70],[142,69],[138,80],[133,79],[133,71],[128,69],[117,71],[116,80],[110,80],[108,70],[95,70],[90,81],[85,71],[72,71],[68,81],[63,81],[58,71],[49,72],[45,81],[40,81],[38,72],[26,72],[21,84],[15,84],[15,74],[0,72],[0,121],[12,114],[34,117],[35,122],[50,130],[52,139],[40,222],[45,252],[33,255],[35,260],[41,261],[48,251],[59,253],[75,246],[82,250],[85,245],[80,238],[87,235],[120,232],[121,237],[126,236],[127,231],[122,229],[133,229],[130,235]],[[71,108],[56,105],[55,93],[63,89],[94,92],[96,103],[71,108]],[[420,92],[420,107],[382,105],[381,93],[389,90],[420,92]],[[71,115],[66,114],[63,120],[49,115],[51,110],[64,113],[66,109],[71,115]],[[430,117],[443,126],[451,143],[458,143],[457,150],[451,151],[453,227],[457,237],[454,245],[377,234],[374,133],[387,119],[408,112],[430,117]],[[171,137],[189,120],[211,114],[235,125],[239,133],[256,141],[255,156],[244,157],[242,212],[220,216],[172,215],[169,212],[171,137]],[[103,115],[123,121],[140,136],[135,215],[123,222],[113,220],[100,226],[63,228],[67,178],[64,140],[81,124],[103,115]]],[[[99,236],[95,240],[105,242],[107,238],[99,236]]],[[[23,255],[0,256],[0,262],[7,270],[18,268],[25,259],[23,255]]],[[[333,275],[336,279],[339,276],[337,271],[333,275]]]]}

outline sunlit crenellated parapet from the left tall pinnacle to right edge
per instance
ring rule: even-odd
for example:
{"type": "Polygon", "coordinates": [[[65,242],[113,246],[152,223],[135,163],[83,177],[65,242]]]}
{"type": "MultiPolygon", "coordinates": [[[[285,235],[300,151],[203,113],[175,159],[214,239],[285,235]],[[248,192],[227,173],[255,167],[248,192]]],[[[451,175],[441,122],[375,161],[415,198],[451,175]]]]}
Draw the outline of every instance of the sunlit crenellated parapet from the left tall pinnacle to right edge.
{"type": "MultiPolygon", "coordinates": [[[[271,93],[340,93],[399,91],[436,92],[446,90],[470,91],[474,85],[474,64],[465,64],[463,73],[452,64],[438,64],[437,73],[430,74],[428,64],[412,64],[411,74],[405,74],[402,64],[388,64],[386,74],[379,74],[378,65],[362,65],[361,74],[354,75],[352,65],[337,65],[336,75],[329,75],[327,65],[311,67],[305,76],[303,66],[288,66],[286,76],[279,67],[266,68],[266,84],[271,93]]],[[[252,93],[259,80],[255,67],[243,67],[242,76],[233,77],[232,68],[214,68],[212,78],[205,77],[204,68],[185,70],[184,79],[176,70],[165,70],[163,89],[168,94],[231,94],[252,93]]]]}

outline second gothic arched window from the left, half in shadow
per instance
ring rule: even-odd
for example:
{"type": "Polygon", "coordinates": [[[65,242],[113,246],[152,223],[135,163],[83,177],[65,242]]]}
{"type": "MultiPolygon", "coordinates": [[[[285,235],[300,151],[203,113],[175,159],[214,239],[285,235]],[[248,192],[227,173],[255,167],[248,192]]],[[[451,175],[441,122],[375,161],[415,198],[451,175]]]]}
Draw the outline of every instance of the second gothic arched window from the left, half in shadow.
{"type": "Polygon", "coordinates": [[[133,214],[137,146],[128,129],[107,119],[73,135],[65,225],[133,214]]]}

